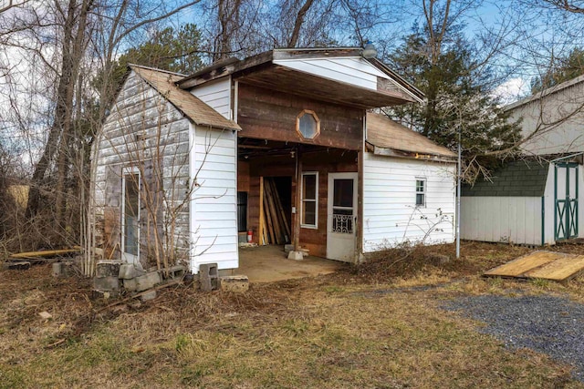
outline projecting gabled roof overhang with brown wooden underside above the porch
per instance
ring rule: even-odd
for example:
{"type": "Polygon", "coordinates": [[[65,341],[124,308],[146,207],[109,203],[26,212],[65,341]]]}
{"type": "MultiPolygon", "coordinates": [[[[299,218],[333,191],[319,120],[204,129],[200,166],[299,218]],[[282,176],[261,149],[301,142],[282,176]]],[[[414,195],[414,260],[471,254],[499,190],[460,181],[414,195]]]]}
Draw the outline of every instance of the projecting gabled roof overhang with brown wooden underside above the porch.
{"type": "MultiPolygon", "coordinates": [[[[360,47],[274,49],[241,61],[228,58],[217,62],[192,76],[184,77],[177,85],[189,89],[231,75],[245,84],[356,107],[388,107],[423,101],[419,89],[381,61],[363,58],[361,52],[360,47]],[[300,62],[328,59],[360,61],[360,66],[369,72],[369,85],[363,87],[343,78],[335,79],[297,67],[300,62]]],[[[359,72],[356,70],[356,73],[359,72]]]]}

